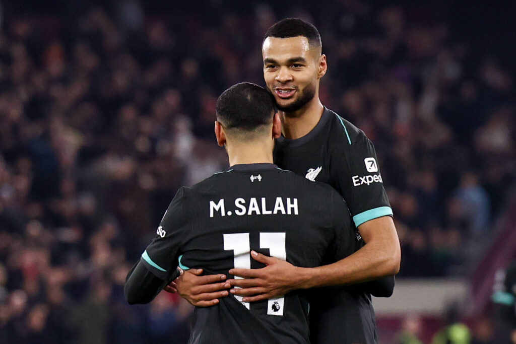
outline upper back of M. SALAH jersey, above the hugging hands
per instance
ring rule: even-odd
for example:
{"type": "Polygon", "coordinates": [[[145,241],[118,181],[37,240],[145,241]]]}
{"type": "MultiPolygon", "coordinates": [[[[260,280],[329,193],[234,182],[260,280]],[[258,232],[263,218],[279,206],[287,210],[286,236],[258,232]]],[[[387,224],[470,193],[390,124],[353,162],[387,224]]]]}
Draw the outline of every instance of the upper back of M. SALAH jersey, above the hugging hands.
{"type": "Polygon", "coordinates": [[[347,219],[333,189],[271,164],[237,165],[187,194],[185,211],[192,221],[185,250],[203,250],[185,254],[182,264],[209,273],[233,268],[228,258],[235,250],[256,250],[297,266],[320,265],[336,225],[347,219]]]}

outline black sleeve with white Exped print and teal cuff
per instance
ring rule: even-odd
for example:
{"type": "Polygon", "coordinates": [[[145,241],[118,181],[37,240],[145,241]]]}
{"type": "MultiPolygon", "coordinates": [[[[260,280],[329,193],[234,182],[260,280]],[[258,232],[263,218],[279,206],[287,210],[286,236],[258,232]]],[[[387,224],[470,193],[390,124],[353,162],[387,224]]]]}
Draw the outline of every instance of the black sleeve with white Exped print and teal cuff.
{"type": "Polygon", "coordinates": [[[369,220],[392,216],[373,143],[361,130],[349,142],[332,154],[331,174],[336,177],[335,188],[346,200],[354,224],[358,227],[369,220]]]}

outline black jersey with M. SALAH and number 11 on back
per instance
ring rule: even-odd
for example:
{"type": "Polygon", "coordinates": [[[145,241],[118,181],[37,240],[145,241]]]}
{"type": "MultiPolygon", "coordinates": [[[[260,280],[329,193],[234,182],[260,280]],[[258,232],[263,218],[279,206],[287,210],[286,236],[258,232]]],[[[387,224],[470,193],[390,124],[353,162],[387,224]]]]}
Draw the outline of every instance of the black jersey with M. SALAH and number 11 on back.
{"type": "MultiPolygon", "coordinates": [[[[227,274],[260,268],[250,251],[315,267],[354,250],[354,228],[341,196],[270,163],[235,165],[172,200],[141,262],[167,280],[177,266],[227,274]]],[[[221,298],[196,307],[191,343],[308,343],[302,291],[255,303],[221,298]]]]}

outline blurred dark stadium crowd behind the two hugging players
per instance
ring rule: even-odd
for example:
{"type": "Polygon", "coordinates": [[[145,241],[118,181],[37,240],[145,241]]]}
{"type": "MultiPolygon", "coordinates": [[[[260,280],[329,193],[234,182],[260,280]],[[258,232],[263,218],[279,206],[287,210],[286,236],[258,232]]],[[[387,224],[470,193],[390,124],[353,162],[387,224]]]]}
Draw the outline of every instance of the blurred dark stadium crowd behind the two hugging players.
{"type": "Polygon", "coordinates": [[[0,2],[0,342],[186,341],[191,308],[128,306],[125,275],[176,189],[227,167],[215,101],[263,85],[284,17],[318,27],[321,100],[375,143],[399,276],[471,273],[516,174],[504,8],[171,3],[0,2]]]}

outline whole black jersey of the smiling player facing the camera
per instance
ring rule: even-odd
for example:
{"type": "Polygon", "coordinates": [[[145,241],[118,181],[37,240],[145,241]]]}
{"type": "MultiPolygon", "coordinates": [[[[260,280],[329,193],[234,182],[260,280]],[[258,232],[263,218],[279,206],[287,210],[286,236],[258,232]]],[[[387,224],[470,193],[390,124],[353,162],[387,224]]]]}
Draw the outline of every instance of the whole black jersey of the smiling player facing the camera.
{"type": "MultiPolygon", "coordinates": [[[[354,225],[382,216],[392,216],[373,143],[362,130],[325,108],[317,125],[307,135],[276,141],[274,162],[280,168],[310,181],[331,185],[347,203],[354,225]]],[[[347,217],[349,214],[342,214],[347,217]]],[[[356,250],[364,242],[357,233],[356,250]]],[[[339,259],[344,258],[341,256],[339,259]]],[[[382,279],[392,293],[394,277],[382,279]]],[[[372,290],[383,288],[372,281],[363,284],[318,289],[311,298],[311,336],[319,343],[376,343],[372,290]],[[378,287],[378,286],[381,287],[378,287]],[[360,331],[362,329],[362,331],[360,331]]]]}

